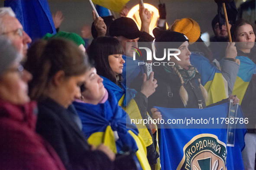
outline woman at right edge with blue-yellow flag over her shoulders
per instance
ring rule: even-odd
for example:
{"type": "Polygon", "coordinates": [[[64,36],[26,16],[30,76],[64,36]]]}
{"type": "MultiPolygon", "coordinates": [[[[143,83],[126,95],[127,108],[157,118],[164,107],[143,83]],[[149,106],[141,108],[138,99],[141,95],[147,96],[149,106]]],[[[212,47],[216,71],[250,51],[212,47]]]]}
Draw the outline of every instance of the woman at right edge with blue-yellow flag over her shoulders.
{"type": "Polygon", "coordinates": [[[231,27],[232,41],[236,42],[241,63],[234,85],[234,93],[241,99],[244,116],[248,118],[245,148],[242,152],[246,170],[254,170],[256,154],[256,47],[255,28],[246,20],[238,20],[231,27]]]}

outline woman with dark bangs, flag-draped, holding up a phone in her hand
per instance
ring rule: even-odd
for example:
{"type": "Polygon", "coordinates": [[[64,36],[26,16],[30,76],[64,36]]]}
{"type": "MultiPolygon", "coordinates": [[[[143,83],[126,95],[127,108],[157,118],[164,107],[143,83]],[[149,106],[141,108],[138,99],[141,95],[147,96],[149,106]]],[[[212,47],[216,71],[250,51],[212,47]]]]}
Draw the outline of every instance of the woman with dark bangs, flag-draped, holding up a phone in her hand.
{"type": "MultiPolygon", "coordinates": [[[[114,92],[117,101],[126,110],[130,119],[148,119],[146,112],[147,98],[157,87],[156,79],[153,79],[153,72],[147,81],[146,74],[144,74],[141,91],[137,92],[134,89],[126,88],[122,84],[121,73],[125,61],[122,58],[123,48],[116,38],[102,37],[94,39],[87,52],[89,58],[94,60],[98,74],[104,79],[105,88],[114,92]]],[[[149,125],[142,125],[142,127],[137,125],[137,127],[147,147],[149,164],[156,164],[159,155],[152,141],[152,131],[149,125]]]]}

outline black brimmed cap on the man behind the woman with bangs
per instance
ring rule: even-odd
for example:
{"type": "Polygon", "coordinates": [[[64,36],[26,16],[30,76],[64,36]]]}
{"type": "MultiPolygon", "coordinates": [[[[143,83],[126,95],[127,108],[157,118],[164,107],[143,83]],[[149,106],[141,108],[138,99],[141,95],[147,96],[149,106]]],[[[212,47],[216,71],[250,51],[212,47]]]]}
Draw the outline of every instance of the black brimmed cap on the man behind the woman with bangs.
{"type": "Polygon", "coordinates": [[[123,36],[130,40],[139,38],[143,35],[133,19],[128,17],[115,19],[110,25],[109,34],[111,37],[123,36]]]}

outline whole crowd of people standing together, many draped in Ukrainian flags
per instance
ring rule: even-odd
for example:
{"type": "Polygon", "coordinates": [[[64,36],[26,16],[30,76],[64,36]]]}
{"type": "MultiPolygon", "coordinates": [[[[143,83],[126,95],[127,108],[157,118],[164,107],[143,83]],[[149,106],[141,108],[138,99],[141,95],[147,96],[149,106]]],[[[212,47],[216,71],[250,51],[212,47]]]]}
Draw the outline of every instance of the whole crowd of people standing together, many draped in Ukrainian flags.
{"type": "MultiPolygon", "coordinates": [[[[65,31],[32,42],[13,10],[1,7],[0,169],[160,170],[161,129],[131,119],[161,120],[154,107],[204,109],[232,99],[250,120],[242,156],[244,168],[254,170],[255,25],[230,22],[231,43],[216,16],[214,43],[207,47],[196,21],[177,19],[166,30],[165,5],[159,10],[154,37],[149,35],[151,13],[141,4],[140,30],[133,19],[97,18],[93,11],[89,45],[65,31]],[[148,61],[137,56],[138,42],[146,42],[156,56],[148,61]],[[167,48],[179,53],[152,65],[150,75],[138,65],[158,62],[167,48]]],[[[53,17],[63,20],[59,12],[53,17]]]]}

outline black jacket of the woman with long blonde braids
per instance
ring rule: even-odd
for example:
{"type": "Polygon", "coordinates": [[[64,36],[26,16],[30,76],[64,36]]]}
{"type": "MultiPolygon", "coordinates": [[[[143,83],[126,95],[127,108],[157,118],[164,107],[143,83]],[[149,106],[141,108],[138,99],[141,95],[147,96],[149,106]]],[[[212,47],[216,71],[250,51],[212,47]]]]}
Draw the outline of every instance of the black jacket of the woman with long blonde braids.
{"type": "Polygon", "coordinates": [[[154,78],[157,80],[158,86],[155,93],[148,98],[148,108],[152,108],[153,106],[167,108],[199,108],[199,100],[202,101],[203,108],[206,107],[204,97],[198,83],[198,79],[201,78],[201,75],[198,72],[196,72],[191,81],[185,81],[185,79],[183,79],[184,88],[188,92],[188,103],[187,106],[184,107],[179,94],[181,81],[178,75],[175,73],[168,74],[163,66],[154,66],[153,70],[154,78]],[[168,86],[170,90],[168,90],[168,86]]]}

